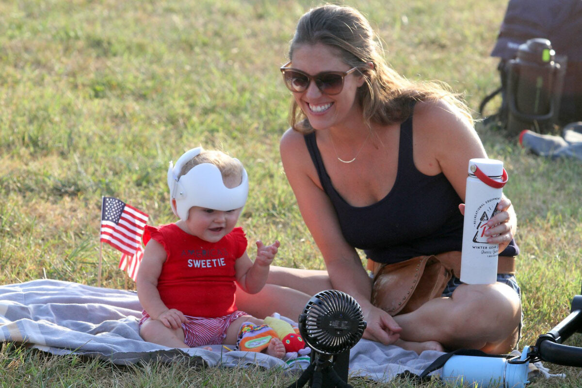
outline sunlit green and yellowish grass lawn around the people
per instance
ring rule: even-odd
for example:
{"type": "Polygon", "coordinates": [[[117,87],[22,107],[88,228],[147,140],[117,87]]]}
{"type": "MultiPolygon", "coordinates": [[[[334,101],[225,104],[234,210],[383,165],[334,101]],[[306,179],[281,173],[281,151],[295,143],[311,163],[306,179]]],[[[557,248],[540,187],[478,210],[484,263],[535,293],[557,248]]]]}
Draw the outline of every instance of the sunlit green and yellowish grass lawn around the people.
{"type": "MultiPolygon", "coordinates": [[[[474,110],[498,86],[489,58],[506,0],[347,2],[380,32],[386,58],[411,79],[439,79],[474,110]]],[[[251,240],[282,241],[277,264],[323,268],[283,174],[278,140],[290,96],[278,67],[312,1],[0,2],[0,284],[47,277],[97,285],[101,196],[171,221],[165,170],[204,145],[243,161],[251,195],[240,224],[251,240]]],[[[503,159],[519,220],[521,346],[534,344],[580,293],[582,165],[524,152],[478,127],[503,159]]],[[[102,282],[122,288],[118,252],[104,247],[102,282]]],[[[570,344],[582,345],[573,336],[570,344]]],[[[533,387],[582,386],[567,380],[533,387]]],[[[1,386],[285,386],[279,371],[150,363],[118,368],[4,345],[1,386]]],[[[407,382],[354,386],[407,387],[407,382]]],[[[427,386],[439,386],[437,382],[427,386]]]]}

